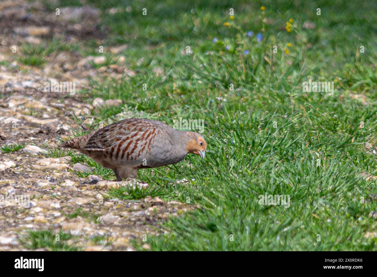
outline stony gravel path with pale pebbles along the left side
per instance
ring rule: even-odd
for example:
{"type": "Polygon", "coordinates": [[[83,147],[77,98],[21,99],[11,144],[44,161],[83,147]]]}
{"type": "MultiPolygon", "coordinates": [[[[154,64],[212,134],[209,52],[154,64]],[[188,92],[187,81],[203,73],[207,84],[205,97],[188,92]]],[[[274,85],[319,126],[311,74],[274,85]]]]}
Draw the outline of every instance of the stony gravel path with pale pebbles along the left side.
{"type": "MultiPolygon", "coordinates": [[[[70,9],[66,13],[61,10],[63,17],[56,20],[39,2],[0,3],[0,23],[5,26],[0,31],[3,46],[0,60],[9,63],[0,66],[0,146],[26,145],[17,152],[0,154],[0,200],[3,200],[0,202],[0,250],[25,249],[19,239],[29,230],[51,230],[53,234],[63,230],[73,235],[69,243],[87,251],[134,250],[130,240],[143,241],[146,236],[161,233],[159,221],[192,208],[158,197],[130,201],[104,198],[112,187],[147,187],[148,184],[137,180],[109,182],[94,175],[80,178],[74,170],[85,170],[84,165],[72,164],[69,157],[46,156],[49,148],[57,147],[60,137],[73,136],[72,130],[81,129],[72,115],[90,122],[93,106],[77,94],[45,92],[44,82],[72,81],[78,91],[87,86],[89,77],[95,78],[99,72],[113,78],[134,74],[122,65],[124,57],[121,56],[117,64],[99,68],[88,61],[102,63],[101,56],[80,57],[64,51],[47,57],[46,64],[40,68],[17,61],[19,54],[12,53],[12,46],[19,51],[23,43],[40,44],[62,32],[68,41],[83,35],[101,39],[103,34],[93,27],[93,22],[98,20],[95,9],[70,9]],[[73,14],[75,18],[64,14],[73,14]],[[87,24],[70,23],[72,20],[87,24]],[[16,195],[30,199],[25,207],[20,201],[12,202],[16,195]],[[106,239],[98,241],[93,237],[106,239]]],[[[112,52],[125,46],[122,47],[115,47],[112,52]]],[[[114,100],[109,104],[120,103],[114,100]]],[[[148,249],[149,245],[143,247],[148,249]]]]}

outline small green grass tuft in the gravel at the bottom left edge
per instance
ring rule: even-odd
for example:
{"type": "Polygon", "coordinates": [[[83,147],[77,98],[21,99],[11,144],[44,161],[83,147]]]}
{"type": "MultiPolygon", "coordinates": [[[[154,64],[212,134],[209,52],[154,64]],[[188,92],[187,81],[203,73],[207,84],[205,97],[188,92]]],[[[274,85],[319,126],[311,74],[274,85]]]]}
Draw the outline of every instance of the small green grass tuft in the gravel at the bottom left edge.
{"type": "Polygon", "coordinates": [[[21,244],[27,249],[45,248],[48,251],[78,251],[78,247],[69,240],[73,236],[60,231],[54,234],[50,230],[29,231],[26,237],[20,239],[21,244]]]}

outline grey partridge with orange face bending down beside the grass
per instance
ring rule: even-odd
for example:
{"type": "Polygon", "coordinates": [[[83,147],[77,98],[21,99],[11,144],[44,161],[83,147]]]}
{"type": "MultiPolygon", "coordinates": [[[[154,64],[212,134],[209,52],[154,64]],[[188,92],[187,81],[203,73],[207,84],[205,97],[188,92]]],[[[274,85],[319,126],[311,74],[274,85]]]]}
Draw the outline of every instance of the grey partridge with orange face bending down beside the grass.
{"type": "Polygon", "coordinates": [[[60,144],[114,171],[116,181],[138,178],[138,170],[176,164],[187,155],[205,157],[207,143],[196,132],[175,130],[151,119],[129,118],[60,144]]]}

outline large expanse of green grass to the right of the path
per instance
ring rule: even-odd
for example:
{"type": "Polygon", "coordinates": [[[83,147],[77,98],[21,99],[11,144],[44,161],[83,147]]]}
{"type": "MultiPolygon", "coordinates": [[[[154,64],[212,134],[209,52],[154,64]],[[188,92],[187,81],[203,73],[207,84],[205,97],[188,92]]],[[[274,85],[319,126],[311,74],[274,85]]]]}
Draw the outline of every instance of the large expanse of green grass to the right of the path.
{"type": "MultiPolygon", "coordinates": [[[[362,177],[377,175],[376,156],[365,148],[365,142],[377,142],[375,3],[113,0],[93,5],[103,12],[101,28],[110,30],[101,45],[128,44],[120,55],[136,75],[91,80],[82,92],[88,102],[121,99],[126,117],[171,126],[179,117],[205,121],[204,160],[189,155],[176,165],[140,170],[147,190],[109,192],[120,199],[150,195],[196,205],[161,223],[167,233],[148,237],[152,250],[377,250],[376,239],[365,237],[377,227],[369,216],[377,202],[365,200],[376,193],[376,181],[362,177]],[[106,14],[113,6],[120,12],[106,14]],[[124,11],[127,6],[130,12],[124,11]],[[294,23],[287,32],[290,18],[294,23]],[[306,21],[316,27],[303,28],[306,21]],[[192,55],[185,54],[186,46],[192,55]],[[334,94],[303,92],[309,79],[333,81],[334,94]],[[183,178],[190,181],[176,184],[183,178]],[[265,193],[289,195],[289,208],[259,205],[265,193]]],[[[99,45],[91,42],[85,51],[99,45]]],[[[116,121],[121,111],[104,107],[94,112],[96,122],[116,121]]],[[[90,159],[75,159],[96,168],[90,159]]],[[[113,178],[100,166],[93,174],[113,178]]]]}

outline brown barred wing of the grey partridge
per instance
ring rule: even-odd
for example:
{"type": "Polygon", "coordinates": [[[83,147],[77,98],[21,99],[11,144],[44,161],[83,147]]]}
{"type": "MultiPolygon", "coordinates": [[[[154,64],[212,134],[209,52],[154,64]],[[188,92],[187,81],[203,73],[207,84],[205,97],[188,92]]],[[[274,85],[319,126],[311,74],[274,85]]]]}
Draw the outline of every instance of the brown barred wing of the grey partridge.
{"type": "Polygon", "coordinates": [[[105,156],[112,161],[132,161],[150,150],[152,140],[160,132],[149,120],[124,119],[95,132],[84,150],[104,151],[105,156]]]}

